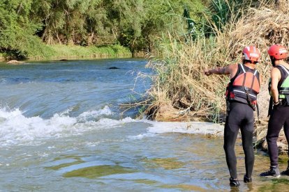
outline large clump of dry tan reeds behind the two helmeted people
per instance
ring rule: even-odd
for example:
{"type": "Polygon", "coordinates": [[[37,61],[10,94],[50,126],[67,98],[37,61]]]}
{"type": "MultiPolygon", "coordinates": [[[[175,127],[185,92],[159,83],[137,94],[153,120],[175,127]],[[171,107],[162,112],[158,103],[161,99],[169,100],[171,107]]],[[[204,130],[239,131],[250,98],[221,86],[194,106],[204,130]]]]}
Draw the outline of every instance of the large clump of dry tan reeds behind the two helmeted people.
{"type": "Polygon", "coordinates": [[[203,35],[196,40],[168,34],[169,41],[162,45],[163,58],[149,64],[157,74],[148,93],[151,104],[144,113],[156,120],[202,118],[222,122],[229,78],[206,77],[204,71],[241,62],[242,49],[255,45],[262,52],[258,70],[263,83],[267,83],[271,68],[268,47],[273,44],[289,47],[289,2],[250,8],[222,31],[214,31],[214,36],[203,35]]]}

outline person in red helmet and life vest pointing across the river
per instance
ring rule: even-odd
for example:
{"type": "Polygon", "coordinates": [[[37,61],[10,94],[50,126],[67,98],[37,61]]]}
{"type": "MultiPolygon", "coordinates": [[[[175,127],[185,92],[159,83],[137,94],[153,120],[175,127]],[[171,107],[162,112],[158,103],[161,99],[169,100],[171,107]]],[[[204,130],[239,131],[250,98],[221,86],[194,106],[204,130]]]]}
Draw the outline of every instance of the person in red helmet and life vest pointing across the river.
{"type": "Polygon", "coordinates": [[[224,130],[225,159],[230,171],[230,186],[239,186],[237,179],[237,158],[235,142],[239,129],[242,134],[242,145],[245,153],[246,174],[244,182],[252,181],[254,164],[253,152],[253,111],[257,106],[257,94],[260,90],[260,74],[255,65],[260,59],[260,51],[253,46],[242,51],[242,63],[206,70],[205,74],[229,74],[230,83],[226,91],[227,117],[224,130]]]}

